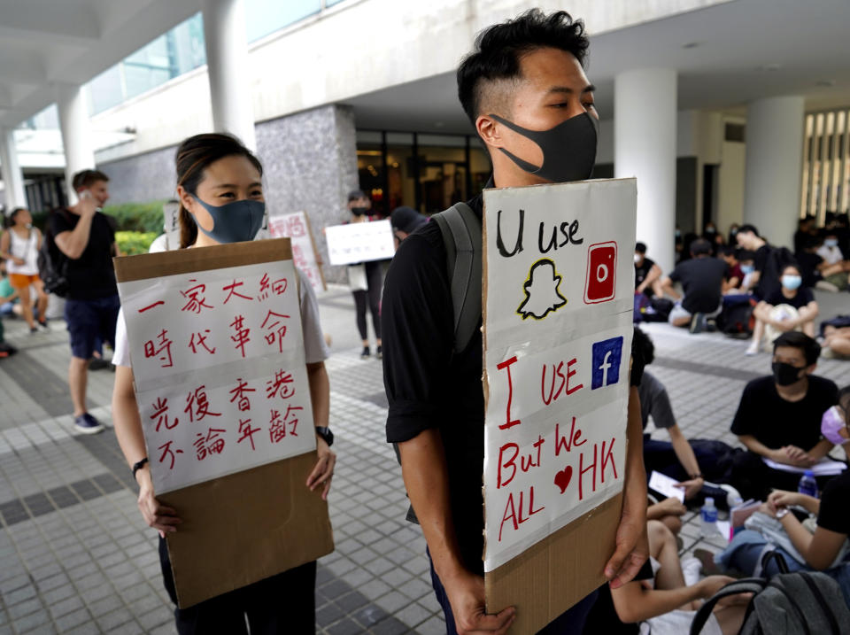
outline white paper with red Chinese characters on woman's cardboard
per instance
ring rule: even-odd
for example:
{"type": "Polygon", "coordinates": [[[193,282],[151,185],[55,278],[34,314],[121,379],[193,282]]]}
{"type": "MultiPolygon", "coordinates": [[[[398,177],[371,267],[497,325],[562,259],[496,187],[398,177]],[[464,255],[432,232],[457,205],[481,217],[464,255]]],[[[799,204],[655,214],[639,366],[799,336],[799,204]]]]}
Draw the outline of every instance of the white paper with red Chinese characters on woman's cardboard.
{"type": "Polygon", "coordinates": [[[315,448],[291,260],[119,292],[158,494],[315,448]]]}

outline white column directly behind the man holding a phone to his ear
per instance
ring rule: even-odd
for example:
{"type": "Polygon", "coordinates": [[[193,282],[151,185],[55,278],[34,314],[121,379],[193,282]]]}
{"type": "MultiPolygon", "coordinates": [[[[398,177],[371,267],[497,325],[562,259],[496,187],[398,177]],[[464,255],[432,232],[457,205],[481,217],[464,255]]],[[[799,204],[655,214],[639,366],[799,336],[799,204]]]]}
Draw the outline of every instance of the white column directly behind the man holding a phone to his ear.
{"type": "Polygon", "coordinates": [[[89,100],[86,89],[72,84],[57,87],[59,128],[62,129],[62,145],[65,148],[65,182],[68,202],[77,202],[73,191],[73,175],[81,170],[95,169],[95,150],[91,139],[89,122],[89,100]]]}

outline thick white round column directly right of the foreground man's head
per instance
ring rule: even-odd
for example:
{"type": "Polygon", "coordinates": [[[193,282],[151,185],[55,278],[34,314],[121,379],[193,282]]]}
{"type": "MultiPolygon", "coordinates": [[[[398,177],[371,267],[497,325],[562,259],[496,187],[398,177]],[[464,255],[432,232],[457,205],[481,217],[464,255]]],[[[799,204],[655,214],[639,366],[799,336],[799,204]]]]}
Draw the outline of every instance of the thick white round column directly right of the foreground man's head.
{"type": "Polygon", "coordinates": [[[638,241],[665,273],[675,263],[676,88],[669,68],[614,78],[614,175],[638,177],[638,241]]]}

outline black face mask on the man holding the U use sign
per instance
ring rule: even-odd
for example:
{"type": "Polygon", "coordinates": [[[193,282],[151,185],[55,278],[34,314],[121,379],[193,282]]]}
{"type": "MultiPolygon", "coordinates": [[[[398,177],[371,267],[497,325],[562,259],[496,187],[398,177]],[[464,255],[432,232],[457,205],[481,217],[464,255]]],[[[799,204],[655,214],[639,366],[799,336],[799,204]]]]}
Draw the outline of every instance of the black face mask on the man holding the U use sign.
{"type": "Polygon", "coordinates": [[[596,162],[599,122],[587,112],[570,117],[548,130],[529,130],[498,115],[490,116],[540,146],[540,150],[543,151],[541,166],[535,166],[506,151],[505,148],[499,148],[529,174],[553,183],[583,181],[591,178],[593,164],[596,162]]]}

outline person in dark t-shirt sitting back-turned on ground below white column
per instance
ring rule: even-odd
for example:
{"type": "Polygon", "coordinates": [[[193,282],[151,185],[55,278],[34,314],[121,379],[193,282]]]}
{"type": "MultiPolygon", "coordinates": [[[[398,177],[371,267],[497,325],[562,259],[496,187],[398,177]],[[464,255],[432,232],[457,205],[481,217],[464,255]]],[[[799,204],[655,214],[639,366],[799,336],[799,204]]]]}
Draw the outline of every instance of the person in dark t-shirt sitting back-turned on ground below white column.
{"type": "Polygon", "coordinates": [[[692,333],[706,328],[706,318],[715,317],[723,309],[723,277],[726,263],[712,258],[711,244],[697,238],[691,244],[691,259],[680,262],[673,273],[664,278],[661,288],[672,298],[681,301],[670,311],[668,321],[673,326],[691,326],[692,333]],[[673,283],[682,283],[684,297],[673,283]]]}

